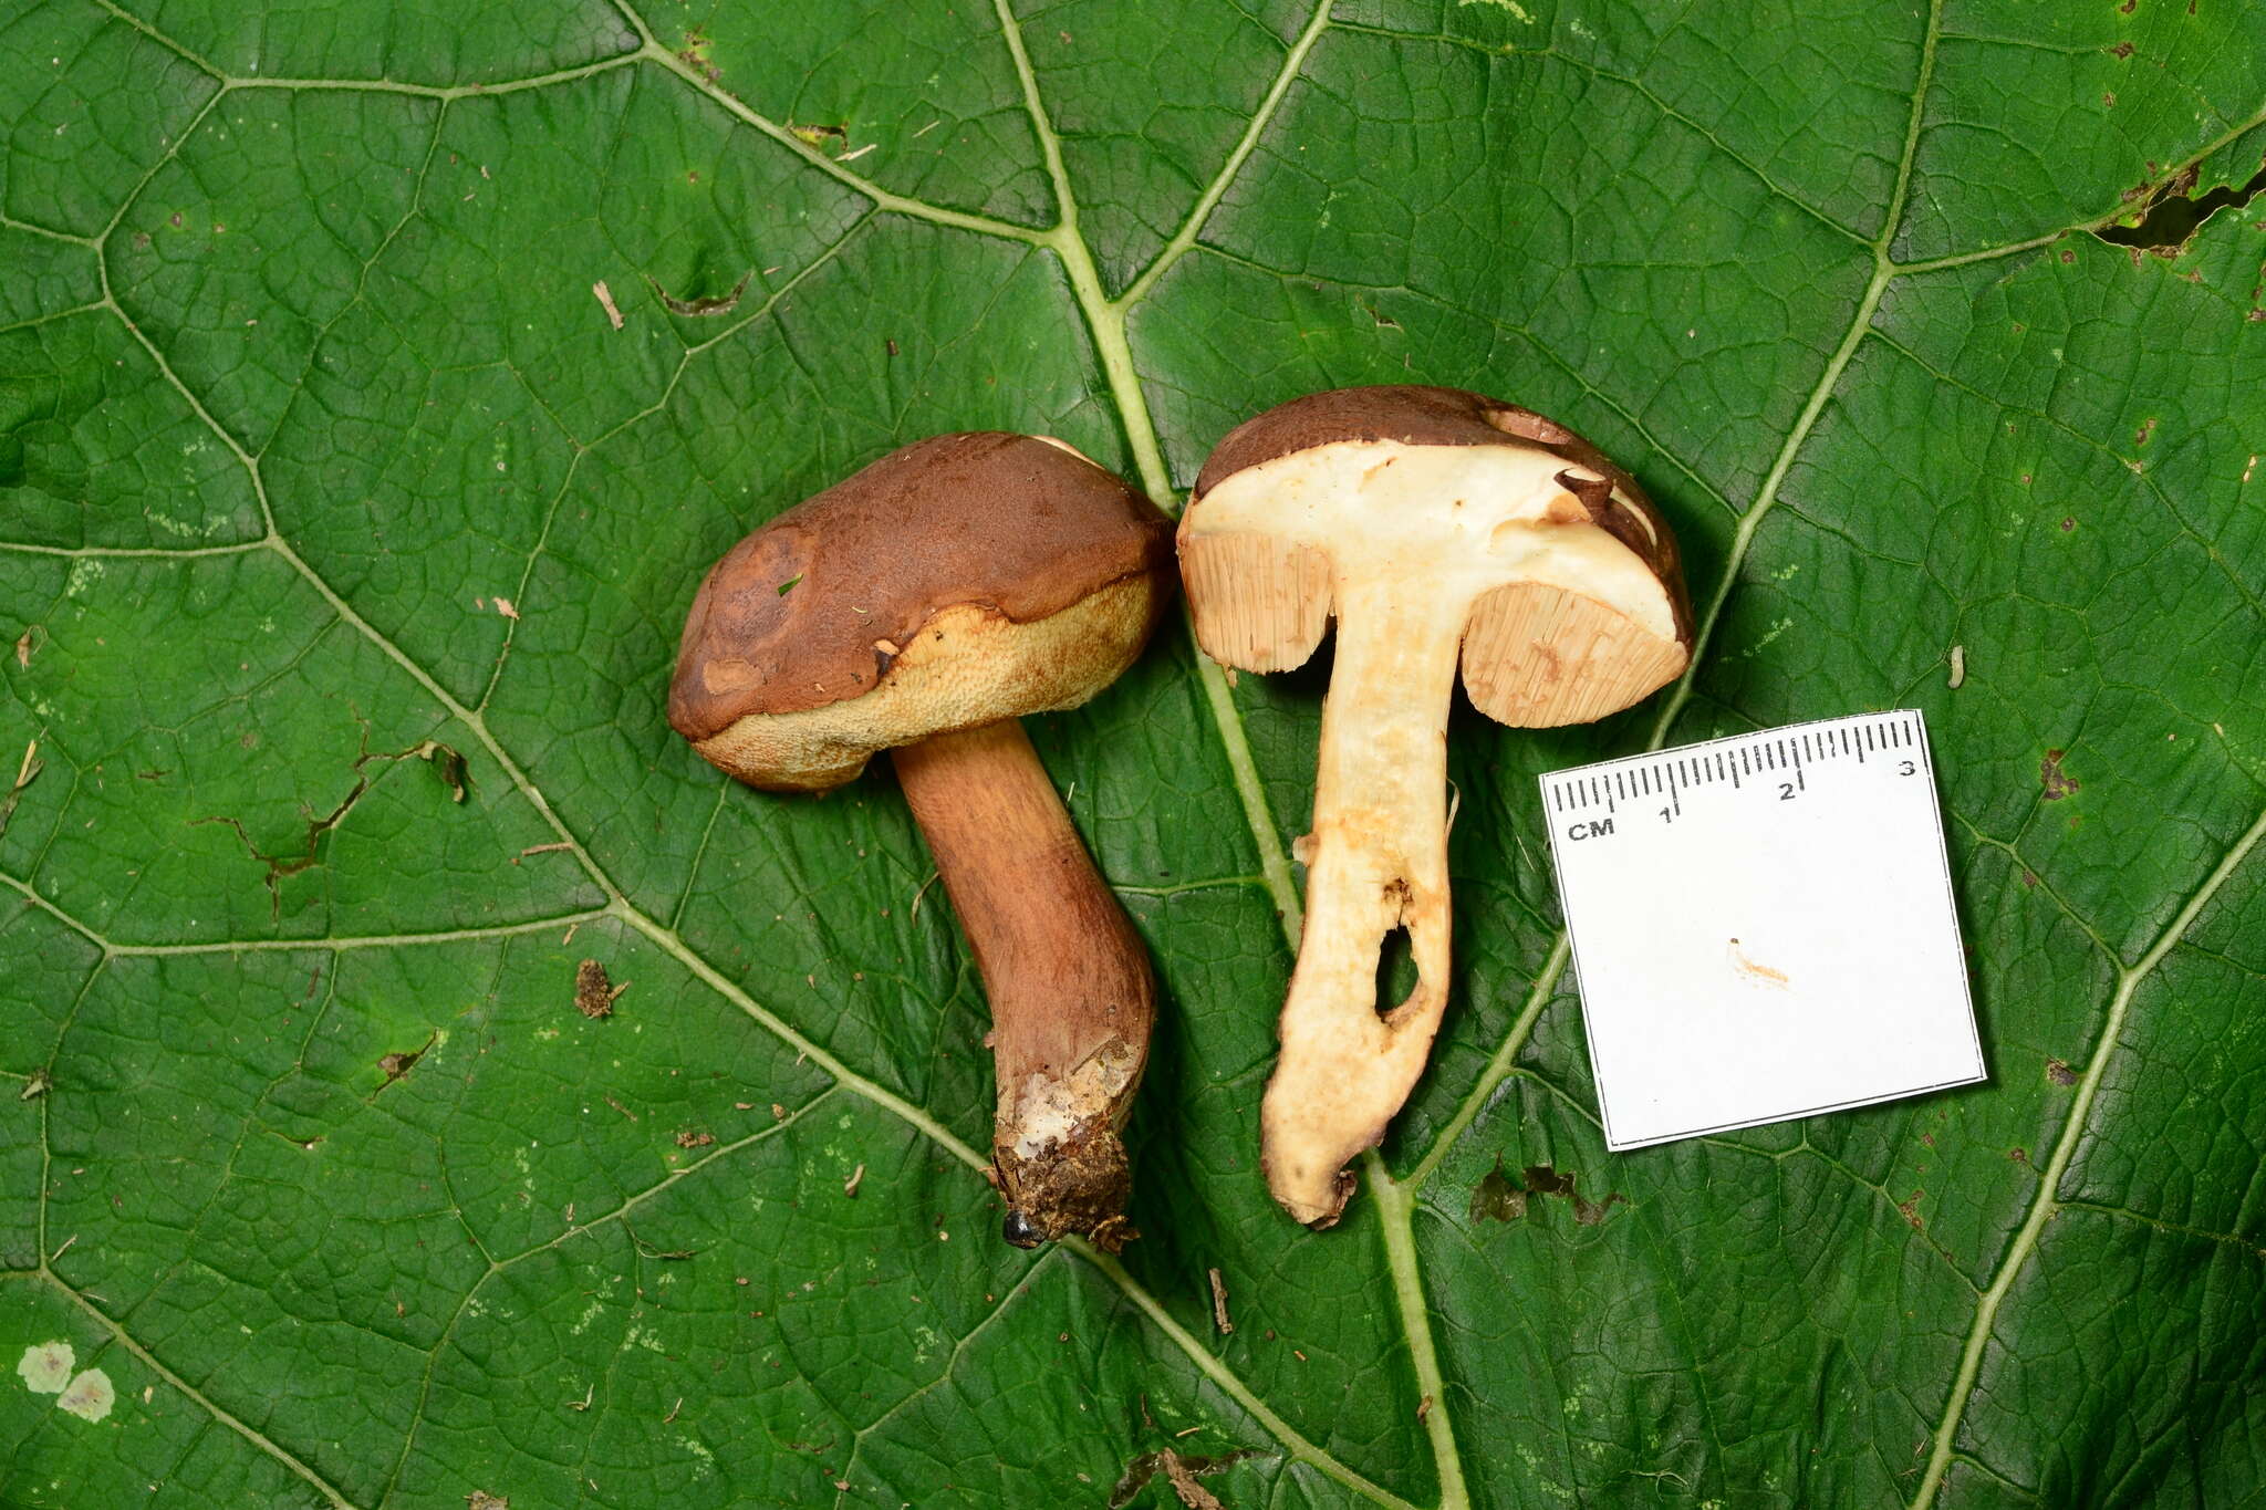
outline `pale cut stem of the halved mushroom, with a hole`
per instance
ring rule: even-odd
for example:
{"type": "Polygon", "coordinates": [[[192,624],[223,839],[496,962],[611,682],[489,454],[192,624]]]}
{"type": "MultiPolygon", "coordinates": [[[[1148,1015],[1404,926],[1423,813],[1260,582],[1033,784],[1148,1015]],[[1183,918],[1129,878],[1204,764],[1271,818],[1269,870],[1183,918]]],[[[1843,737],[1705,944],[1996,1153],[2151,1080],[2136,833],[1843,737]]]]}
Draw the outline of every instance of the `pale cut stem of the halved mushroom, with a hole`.
{"type": "Polygon", "coordinates": [[[1283,1001],[1283,1057],[1260,1109],[1267,1189],[1328,1227],[1346,1161],[1385,1136],[1448,1005],[1448,700],[1471,593],[1409,591],[1375,564],[1339,577],[1321,711],[1305,933],[1283,1001]],[[1378,1007],[1378,955],[1407,928],[1416,987],[1378,1007]]]}

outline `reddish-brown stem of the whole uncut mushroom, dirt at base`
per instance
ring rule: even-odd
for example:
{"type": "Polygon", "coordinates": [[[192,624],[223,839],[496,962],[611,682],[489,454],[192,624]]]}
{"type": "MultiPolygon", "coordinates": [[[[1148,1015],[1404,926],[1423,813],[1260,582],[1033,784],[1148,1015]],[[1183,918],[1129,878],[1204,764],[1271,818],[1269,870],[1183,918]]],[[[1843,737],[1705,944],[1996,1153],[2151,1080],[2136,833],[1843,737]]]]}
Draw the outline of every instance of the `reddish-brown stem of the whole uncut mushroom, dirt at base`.
{"type": "Polygon", "coordinates": [[[993,1175],[1020,1247],[1135,1236],[1117,1136],[1149,1057],[1156,983],[1013,718],[893,752],[990,998],[993,1175]]]}

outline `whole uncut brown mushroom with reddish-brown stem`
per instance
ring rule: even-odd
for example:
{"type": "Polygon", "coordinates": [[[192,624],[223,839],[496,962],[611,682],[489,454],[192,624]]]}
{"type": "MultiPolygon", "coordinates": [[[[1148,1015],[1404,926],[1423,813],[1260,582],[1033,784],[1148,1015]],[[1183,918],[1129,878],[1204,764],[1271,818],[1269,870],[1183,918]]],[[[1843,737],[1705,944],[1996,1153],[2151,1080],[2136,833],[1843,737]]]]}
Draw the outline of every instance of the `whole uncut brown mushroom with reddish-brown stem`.
{"type": "Polygon", "coordinates": [[[1133,663],[1172,525],[1063,441],[940,435],[734,546],[684,620],[668,722],[709,763],[825,792],[891,749],[990,998],[993,1182],[1017,1247],[1135,1236],[1119,1139],[1156,985],[1031,749],[1133,663]]]}

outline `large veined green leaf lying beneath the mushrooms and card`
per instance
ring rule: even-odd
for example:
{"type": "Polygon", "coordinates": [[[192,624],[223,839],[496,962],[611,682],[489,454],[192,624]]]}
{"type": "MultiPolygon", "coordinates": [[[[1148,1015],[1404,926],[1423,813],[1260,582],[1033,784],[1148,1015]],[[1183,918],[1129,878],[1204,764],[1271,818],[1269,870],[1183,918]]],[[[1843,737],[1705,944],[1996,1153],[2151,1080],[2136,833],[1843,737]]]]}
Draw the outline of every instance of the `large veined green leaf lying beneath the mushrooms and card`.
{"type": "Polygon", "coordinates": [[[2259,1501],[2261,120],[2157,0],[14,7],[0,1363],[113,1401],[0,1374],[0,1501],[2259,1501]],[[1176,500],[1398,380],[1629,464],[1697,666],[1457,715],[1330,1234],[1255,1166],[1326,668],[1033,720],[1167,1010],[1147,1236],[1006,1247],[904,804],[702,765],[691,591],[922,435],[1176,500]],[[1885,706],[1990,1084],[1607,1155],[1534,774],[1885,706]]]}

